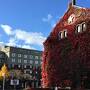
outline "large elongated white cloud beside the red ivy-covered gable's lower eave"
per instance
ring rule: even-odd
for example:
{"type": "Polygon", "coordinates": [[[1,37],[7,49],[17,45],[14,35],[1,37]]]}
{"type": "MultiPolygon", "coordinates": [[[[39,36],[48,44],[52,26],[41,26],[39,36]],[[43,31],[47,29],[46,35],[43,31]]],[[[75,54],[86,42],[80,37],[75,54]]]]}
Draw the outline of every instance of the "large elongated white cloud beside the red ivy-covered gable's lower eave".
{"type": "Polygon", "coordinates": [[[26,32],[20,29],[17,29],[15,31],[15,37],[18,40],[23,40],[25,44],[33,44],[33,45],[42,45],[42,43],[46,39],[42,33],[26,32]]]}

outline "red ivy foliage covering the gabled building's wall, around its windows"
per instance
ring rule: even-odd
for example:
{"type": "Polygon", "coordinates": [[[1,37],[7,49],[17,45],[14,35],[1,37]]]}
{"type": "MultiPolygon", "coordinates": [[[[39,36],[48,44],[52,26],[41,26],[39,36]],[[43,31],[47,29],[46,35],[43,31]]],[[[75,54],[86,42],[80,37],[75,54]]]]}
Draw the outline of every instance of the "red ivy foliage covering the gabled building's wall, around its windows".
{"type": "MultiPolygon", "coordinates": [[[[88,18],[88,16],[83,16],[82,14],[75,23],[68,25],[66,22],[68,17],[77,9],[76,7],[71,7],[44,42],[43,87],[71,86],[75,74],[81,72],[83,68],[86,70],[90,68],[90,17],[88,18]],[[87,23],[87,30],[83,33],[75,34],[76,25],[82,21],[87,23]],[[58,33],[63,29],[68,30],[68,36],[59,40],[58,33]]],[[[85,9],[84,11],[86,12],[87,10],[85,9]]]]}

